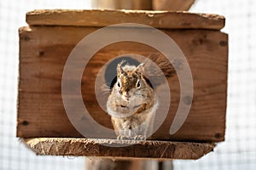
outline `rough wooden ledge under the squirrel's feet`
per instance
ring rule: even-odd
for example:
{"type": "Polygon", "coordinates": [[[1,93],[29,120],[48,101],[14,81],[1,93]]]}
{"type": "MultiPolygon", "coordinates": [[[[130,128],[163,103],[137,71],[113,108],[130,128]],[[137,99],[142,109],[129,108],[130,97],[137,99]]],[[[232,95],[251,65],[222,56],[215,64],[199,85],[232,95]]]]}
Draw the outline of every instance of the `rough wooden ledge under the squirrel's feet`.
{"type": "Polygon", "coordinates": [[[101,156],[149,159],[199,159],[211,152],[215,144],[136,141],[116,139],[24,139],[38,155],[46,156],[101,156]],[[108,145],[106,145],[108,144],[108,145]],[[110,144],[110,145],[109,145],[110,144]],[[128,144],[131,144],[127,146],[128,144]],[[119,147],[115,147],[119,145],[119,147]],[[129,150],[129,151],[128,151],[129,150]]]}

